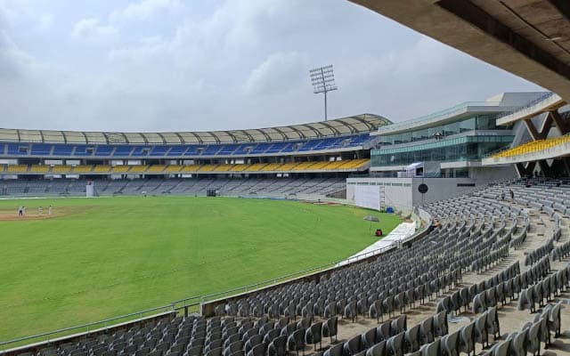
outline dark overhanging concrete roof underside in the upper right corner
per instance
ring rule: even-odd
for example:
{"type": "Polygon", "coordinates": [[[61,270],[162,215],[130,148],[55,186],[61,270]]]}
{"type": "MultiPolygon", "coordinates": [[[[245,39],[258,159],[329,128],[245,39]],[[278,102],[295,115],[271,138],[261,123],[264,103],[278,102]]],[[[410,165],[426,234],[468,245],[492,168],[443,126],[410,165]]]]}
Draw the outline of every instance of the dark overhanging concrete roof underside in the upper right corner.
{"type": "Polygon", "coordinates": [[[570,101],[568,0],[350,0],[570,101]]]}

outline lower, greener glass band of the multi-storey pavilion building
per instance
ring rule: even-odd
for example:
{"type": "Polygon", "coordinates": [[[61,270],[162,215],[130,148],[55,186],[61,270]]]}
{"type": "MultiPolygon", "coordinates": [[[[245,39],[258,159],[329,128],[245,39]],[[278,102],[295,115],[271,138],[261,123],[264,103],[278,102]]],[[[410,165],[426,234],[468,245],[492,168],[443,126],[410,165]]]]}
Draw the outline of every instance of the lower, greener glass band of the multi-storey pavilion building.
{"type": "Polygon", "coordinates": [[[480,160],[489,153],[507,148],[512,135],[462,136],[394,149],[371,151],[372,166],[407,166],[414,162],[455,162],[480,160]]]}

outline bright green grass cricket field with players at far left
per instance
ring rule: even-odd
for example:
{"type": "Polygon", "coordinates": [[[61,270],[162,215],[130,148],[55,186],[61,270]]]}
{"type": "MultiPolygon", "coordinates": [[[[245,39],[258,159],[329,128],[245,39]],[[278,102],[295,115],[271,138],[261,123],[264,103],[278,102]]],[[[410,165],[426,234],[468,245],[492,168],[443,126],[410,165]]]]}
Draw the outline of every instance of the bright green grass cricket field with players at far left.
{"type": "MultiPolygon", "coordinates": [[[[239,198],[0,200],[0,340],[102,320],[300,271],[374,239],[349,206],[239,198]]],[[[377,214],[386,233],[400,223],[377,214]]]]}

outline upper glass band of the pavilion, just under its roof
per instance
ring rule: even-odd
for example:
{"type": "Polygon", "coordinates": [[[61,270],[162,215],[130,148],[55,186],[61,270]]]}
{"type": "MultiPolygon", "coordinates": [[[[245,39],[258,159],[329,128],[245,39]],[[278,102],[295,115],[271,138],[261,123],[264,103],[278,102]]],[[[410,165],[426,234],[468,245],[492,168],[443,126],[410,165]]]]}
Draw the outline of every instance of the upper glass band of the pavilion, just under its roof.
{"type": "Polygon", "coordinates": [[[504,130],[509,127],[496,125],[496,114],[493,115],[476,115],[466,117],[464,119],[451,122],[445,125],[436,125],[433,127],[423,128],[419,130],[409,131],[401,134],[387,134],[380,136],[380,145],[393,145],[407,142],[418,142],[433,139],[436,134],[451,136],[453,134],[461,134],[474,130],[504,130]]]}

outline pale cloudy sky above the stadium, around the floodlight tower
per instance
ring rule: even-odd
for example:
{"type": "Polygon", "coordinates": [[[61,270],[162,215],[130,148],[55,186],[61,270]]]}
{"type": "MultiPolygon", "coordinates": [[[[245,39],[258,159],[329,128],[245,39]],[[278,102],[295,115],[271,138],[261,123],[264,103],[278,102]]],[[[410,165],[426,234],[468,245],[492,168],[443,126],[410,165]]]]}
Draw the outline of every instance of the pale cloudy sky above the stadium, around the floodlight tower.
{"type": "Polygon", "coordinates": [[[0,127],[182,131],[393,121],[536,85],[346,0],[0,0],[0,127]]]}

